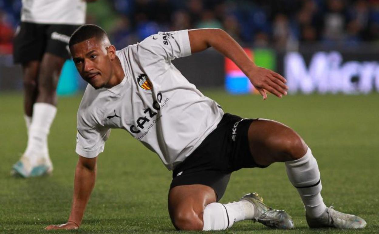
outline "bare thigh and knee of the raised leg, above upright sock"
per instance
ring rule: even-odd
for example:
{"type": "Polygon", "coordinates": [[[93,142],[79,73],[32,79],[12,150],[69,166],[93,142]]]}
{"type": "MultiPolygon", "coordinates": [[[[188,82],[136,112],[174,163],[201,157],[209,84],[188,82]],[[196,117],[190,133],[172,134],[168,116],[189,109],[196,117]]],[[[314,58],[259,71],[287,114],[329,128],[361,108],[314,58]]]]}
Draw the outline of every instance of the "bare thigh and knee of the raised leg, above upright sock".
{"type": "Polygon", "coordinates": [[[257,119],[251,122],[248,141],[252,157],[262,166],[296,160],[307,152],[304,140],[280,122],[257,119]]]}

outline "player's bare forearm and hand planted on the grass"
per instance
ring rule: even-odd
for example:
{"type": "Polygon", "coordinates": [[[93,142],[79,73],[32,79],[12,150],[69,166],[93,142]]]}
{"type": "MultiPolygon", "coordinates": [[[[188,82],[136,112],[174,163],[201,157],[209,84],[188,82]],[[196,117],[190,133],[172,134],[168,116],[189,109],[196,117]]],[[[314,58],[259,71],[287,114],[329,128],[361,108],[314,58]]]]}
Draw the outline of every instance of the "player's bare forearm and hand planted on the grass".
{"type": "Polygon", "coordinates": [[[80,226],[84,210],[91,195],[96,180],[97,157],[88,159],[79,156],[75,170],[74,198],[72,201],[71,214],[67,223],[50,225],[45,229],[77,229],[80,226]]]}

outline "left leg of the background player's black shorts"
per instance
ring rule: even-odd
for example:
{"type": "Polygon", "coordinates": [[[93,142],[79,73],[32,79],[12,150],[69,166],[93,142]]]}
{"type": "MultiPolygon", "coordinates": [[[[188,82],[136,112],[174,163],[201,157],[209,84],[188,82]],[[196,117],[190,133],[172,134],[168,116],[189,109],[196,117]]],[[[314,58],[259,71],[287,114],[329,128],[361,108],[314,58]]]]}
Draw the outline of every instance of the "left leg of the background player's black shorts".
{"type": "Polygon", "coordinates": [[[14,63],[41,61],[46,46],[45,30],[46,25],[21,22],[13,41],[14,63]]]}

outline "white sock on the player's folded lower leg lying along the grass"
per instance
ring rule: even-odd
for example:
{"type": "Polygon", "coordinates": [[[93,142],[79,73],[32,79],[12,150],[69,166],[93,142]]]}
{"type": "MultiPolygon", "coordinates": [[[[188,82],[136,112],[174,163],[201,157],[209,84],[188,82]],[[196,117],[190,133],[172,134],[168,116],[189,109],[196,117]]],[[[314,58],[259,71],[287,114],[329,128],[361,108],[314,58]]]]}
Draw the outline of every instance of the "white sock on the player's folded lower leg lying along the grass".
{"type": "Polygon", "coordinates": [[[254,218],[254,205],[249,201],[228,204],[211,203],[205,206],[203,214],[203,231],[225,230],[233,223],[254,218]]]}

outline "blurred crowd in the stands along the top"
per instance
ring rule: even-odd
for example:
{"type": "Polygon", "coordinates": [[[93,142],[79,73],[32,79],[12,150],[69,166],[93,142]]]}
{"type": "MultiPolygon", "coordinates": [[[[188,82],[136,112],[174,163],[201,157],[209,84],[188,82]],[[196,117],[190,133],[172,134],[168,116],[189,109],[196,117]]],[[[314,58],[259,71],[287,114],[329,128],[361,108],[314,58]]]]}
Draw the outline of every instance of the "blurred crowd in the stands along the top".
{"type": "MultiPolygon", "coordinates": [[[[20,8],[21,0],[0,0],[0,53],[12,50],[20,8]]],[[[379,42],[379,0],[99,0],[87,16],[117,48],[187,28],[222,28],[244,46],[279,50],[379,42]]]]}

